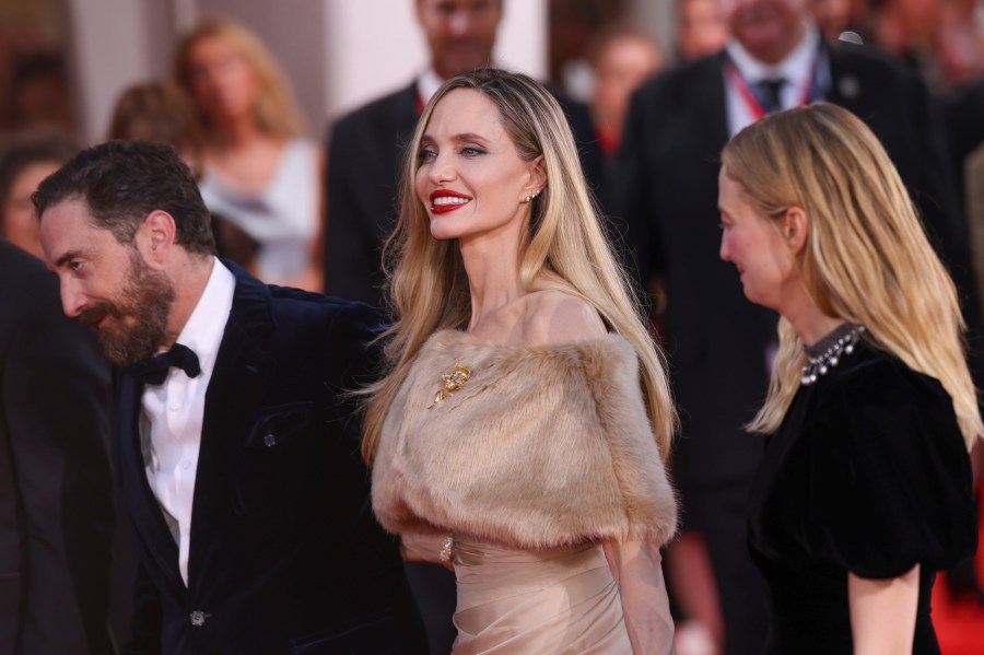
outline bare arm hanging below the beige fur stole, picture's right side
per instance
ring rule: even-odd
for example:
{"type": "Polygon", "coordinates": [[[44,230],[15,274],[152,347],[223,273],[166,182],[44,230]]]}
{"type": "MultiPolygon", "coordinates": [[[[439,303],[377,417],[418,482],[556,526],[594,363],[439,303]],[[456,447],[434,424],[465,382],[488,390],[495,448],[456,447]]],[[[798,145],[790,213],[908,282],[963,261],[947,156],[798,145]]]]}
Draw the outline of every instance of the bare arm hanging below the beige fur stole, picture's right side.
{"type": "Polygon", "coordinates": [[[604,541],[601,548],[619,585],[632,652],[672,654],[673,620],[659,549],[641,541],[604,541]]]}

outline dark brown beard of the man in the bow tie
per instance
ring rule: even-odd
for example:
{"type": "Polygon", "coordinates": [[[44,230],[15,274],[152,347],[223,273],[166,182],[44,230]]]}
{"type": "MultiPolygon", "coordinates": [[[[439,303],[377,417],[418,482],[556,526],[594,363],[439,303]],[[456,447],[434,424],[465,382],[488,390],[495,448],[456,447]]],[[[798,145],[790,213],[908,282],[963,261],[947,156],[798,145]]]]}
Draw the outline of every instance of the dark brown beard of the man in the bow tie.
{"type": "Polygon", "coordinates": [[[117,366],[132,366],[156,354],[164,344],[173,304],[174,282],[133,252],[122,291],[115,299],[83,309],[79,321],[98,335],[107,360],[117,366]],[[105,316],[113,320],[99,327],[105,316]]]}

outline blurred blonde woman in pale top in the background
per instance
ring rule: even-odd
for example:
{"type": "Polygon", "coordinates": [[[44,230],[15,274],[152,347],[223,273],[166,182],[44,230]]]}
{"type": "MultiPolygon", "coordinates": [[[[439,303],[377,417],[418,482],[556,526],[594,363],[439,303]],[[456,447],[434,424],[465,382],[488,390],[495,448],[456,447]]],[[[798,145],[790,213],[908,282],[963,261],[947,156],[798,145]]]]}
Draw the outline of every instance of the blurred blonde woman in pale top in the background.
{"type": "Polygon", "coordinates": [[[202,134],[202,198],[258,246],[239,264],[266,282],[320,290],[324,157],[273,56],[245,25],[209,20],[178,45],[174,75],[202,134]]]}

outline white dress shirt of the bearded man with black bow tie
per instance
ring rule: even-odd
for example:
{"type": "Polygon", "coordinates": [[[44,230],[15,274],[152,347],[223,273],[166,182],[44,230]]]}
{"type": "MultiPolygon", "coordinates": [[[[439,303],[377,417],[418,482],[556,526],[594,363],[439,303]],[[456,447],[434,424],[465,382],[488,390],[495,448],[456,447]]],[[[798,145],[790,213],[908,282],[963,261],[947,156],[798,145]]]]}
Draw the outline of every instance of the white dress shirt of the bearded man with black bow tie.
{"type": "Polygon", "coordinates": [[[178,566],[188,585],[188,547],[204,398],[232,309],[236,280],[213,259],[204,292],[177,342],[195,351],[201,374],[188,377],[171,369],[164,384],[148,385],[141,398],[140,442],[150,488],[178,546],[178,566]]]}

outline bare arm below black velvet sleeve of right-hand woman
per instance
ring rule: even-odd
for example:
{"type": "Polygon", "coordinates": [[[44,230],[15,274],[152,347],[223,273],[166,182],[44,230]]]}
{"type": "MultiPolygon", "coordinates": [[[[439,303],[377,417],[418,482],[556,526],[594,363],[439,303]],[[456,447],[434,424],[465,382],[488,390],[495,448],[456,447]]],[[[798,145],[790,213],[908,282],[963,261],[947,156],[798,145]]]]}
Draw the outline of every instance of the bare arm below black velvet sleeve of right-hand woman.
{"type": "Polygon", "coordinates": [[[847,574],[851,632],[857,655],[912,653],[919,565],[899,577],[869,580],[847,574]]]}

